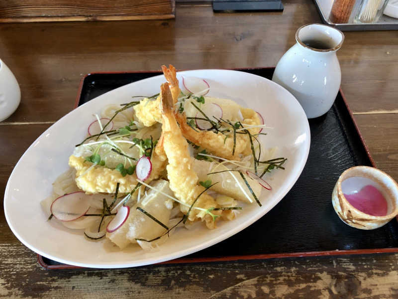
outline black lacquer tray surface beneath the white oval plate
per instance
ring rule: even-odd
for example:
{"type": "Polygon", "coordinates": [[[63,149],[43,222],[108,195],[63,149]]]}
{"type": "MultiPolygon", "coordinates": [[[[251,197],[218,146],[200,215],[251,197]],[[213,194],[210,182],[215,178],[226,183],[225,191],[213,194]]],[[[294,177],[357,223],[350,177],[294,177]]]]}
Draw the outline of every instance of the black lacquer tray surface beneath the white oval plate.
{"type": "MultiPolygon", "coordinates": [[[[274,68],[240,69],[271,79],[274,68]]],[[[122,85],[160,72],[93,73],[81,83],[76,106],[122,85]]],[[[375,230],[359,230],[336,215],[331,194],[339,175],[355,165],[375,166],[340,90],[327,114],[309,120],[308,160],[290,192],[265,216],[207,249],[167,263],[253,260],[398,252],[394,219],[375,230]]],[[[38,256],[47,269],[77,268],[38,256]]]]}

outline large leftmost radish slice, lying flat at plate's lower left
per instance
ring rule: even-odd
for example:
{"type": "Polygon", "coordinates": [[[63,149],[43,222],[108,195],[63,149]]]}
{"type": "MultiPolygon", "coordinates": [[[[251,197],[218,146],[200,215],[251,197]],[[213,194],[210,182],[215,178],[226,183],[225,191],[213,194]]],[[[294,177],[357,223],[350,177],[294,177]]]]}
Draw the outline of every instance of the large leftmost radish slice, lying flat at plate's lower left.
{"type": "Polygon", "coordinates": [[[51,213],[61,221],[76,220],[86,214],[92,199],[82,191],[62,195],[51,204],[51,213]]]}

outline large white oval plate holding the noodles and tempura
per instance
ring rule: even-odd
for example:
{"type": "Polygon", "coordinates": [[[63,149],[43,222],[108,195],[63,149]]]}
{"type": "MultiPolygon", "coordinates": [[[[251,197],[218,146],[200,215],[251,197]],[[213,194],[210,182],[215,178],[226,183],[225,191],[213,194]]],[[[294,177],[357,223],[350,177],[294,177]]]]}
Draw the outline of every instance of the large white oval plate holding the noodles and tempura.
{"type": "MultiPolygon", "coordinates": [[[[82,267],[122,268],[176,259],[216,244],[246,228],[271,210],[291,189],[306,162],[310,133],[298,101],[284,88],[263,77],[230,70],[194,70],[178,73],[195,76],[210,84],[208,96],[229,98],[260,112],[268,127],[261,136],[263,148],[278,147],[277,156],[287,157],[286,170],[267,176],[272,191],[264,190],[260,201],[245,205],[233,221],[219,221],[208,230],[201,223],[192,230],[179,229],[158,251],[144,252],[138,246],[120,251],[108,240],[89,241],[82,231],[47,221],[40,201],[51,193],[52,182],[68,169],[74,145],[81,142],[93,114],[111,103],[126,103],[134,95],[159,92],[163,76],[134,82],[73,110],[48,128],[22,155],[13,169],[4,195],[4,212],[15,236],[31,250],[52,260],[82,267]]],[[[267,174],[268,175],[268,174],[267,174]]],[[[281,219],[283,221],[283,219],[281,219]]],[[[260,232],[259,232],[260,233],[260,232]]]]}

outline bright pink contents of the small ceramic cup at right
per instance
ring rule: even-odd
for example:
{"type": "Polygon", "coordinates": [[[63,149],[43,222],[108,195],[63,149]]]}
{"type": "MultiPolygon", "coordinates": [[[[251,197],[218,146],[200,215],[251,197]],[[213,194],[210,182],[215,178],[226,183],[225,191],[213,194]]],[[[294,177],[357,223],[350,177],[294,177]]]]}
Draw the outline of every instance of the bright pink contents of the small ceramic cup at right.
{"type": "Polygon", "coordinates": [[[358,193],[344,194],[347,201],[357,210],[372,215],[387,215],[387,200],[374,186],[366,185],[358,193]]]}

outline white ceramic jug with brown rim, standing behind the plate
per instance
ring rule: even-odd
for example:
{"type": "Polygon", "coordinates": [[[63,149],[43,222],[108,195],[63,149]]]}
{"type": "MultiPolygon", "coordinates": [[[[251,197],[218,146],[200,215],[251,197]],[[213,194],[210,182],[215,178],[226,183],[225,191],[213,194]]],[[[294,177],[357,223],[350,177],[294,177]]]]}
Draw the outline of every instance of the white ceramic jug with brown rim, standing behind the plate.
{"type": "Polygon", "coordinates": [[[307,118],[315,118],[330,109],[339,91],[336,51],[344,34],[323,24],[310,24],[298,28],[296,41],[279,60],[272,80],[296,97],[307,118]]]}

